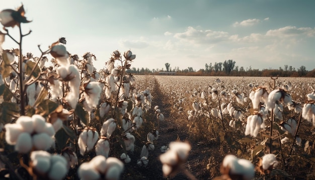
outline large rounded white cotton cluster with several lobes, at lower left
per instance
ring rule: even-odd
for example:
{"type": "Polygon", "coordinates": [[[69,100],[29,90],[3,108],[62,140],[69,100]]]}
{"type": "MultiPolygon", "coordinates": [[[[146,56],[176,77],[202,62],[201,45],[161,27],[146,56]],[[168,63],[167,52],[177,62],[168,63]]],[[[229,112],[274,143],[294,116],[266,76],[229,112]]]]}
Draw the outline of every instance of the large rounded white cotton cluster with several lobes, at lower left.
{"type": "Polygon", "coordinates": [[[32,148],[48,150],[54,143],[55,130],[51,123],[40,115],[21,116],[14,124],[6,124],[6,141],[15,145],[15,150],[28,153],[32,148]]]}

